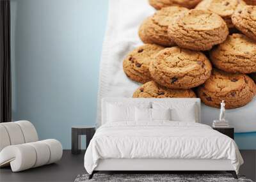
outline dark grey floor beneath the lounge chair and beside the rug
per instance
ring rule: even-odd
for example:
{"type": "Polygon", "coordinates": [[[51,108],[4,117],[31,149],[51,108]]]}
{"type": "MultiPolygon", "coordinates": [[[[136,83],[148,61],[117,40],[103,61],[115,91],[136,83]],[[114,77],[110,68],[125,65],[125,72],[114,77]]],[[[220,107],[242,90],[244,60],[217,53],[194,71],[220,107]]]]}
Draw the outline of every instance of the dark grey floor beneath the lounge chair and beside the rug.
{"type": "MultiPolygon", "coordinates": [[[[253,181],[256,180],[256,150],[242,150],[244,164],[240,173],[253,181]]],[[[63,157],[58,163],[29,169],[22,172],[12,172],[10,167],[0,169],[0,181],[74,181],[78,174],[86,173],[83,166],[84,153],[72,155],[70,150],[63,151],[63,157]]]]}

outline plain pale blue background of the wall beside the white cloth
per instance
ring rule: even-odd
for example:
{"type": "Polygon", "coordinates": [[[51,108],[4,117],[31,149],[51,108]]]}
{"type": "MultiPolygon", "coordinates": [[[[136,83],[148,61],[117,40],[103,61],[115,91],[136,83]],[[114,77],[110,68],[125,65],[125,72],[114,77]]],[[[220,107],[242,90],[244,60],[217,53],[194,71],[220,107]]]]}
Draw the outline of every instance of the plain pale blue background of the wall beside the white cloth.
{"type": "MultiPolygon", "coordinates": [[[[71,126],[96,120],[108,1],[11,0],[11,13],[13,120],[70,149],[71,126]]],[[[236,142],[256,149],[256,133],[236,142]]]]}

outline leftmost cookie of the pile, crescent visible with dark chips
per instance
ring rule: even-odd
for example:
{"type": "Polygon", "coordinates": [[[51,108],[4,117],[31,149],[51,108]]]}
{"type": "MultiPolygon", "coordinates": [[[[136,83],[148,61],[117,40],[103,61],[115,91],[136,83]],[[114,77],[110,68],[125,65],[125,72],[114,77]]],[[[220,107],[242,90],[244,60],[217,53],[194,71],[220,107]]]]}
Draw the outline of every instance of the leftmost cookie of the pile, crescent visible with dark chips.
{"type": "Polygon", "coordinates": [[[152,56],[163,49],[159,45],[145,44],[129,52],[123,62],[124,72],[127,77],[141,83],[152,80],[148,66],[152,61],[152,56]]]}

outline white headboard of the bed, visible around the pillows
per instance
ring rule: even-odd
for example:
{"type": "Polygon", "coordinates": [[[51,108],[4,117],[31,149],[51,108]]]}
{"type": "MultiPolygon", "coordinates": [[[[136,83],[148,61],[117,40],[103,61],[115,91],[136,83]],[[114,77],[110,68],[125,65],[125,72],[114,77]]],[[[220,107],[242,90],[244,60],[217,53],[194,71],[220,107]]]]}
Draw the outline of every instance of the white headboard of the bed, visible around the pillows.
{"type": "Polygon", "coordinates": [[[136,105],[141,102],[171,102],[171,103],[195,103],[196,105],[196,123],[201,123],[201,105],[200,98],[102,98],[101,116],[98,116],[97,126],[106,123],[108,103],[131,103],[136,105]]]}

